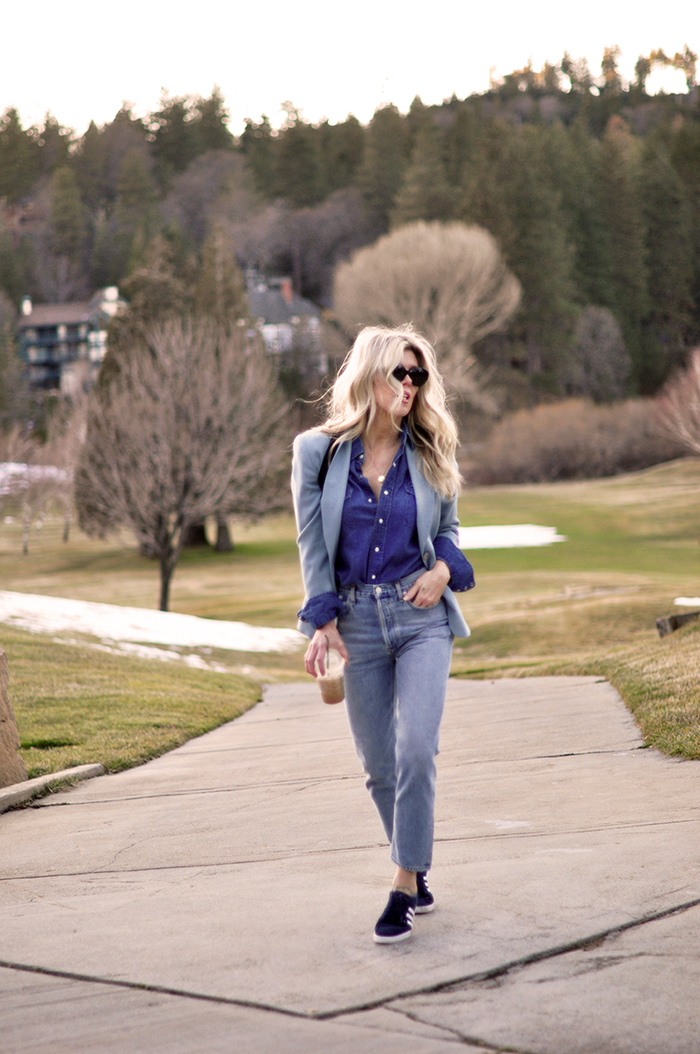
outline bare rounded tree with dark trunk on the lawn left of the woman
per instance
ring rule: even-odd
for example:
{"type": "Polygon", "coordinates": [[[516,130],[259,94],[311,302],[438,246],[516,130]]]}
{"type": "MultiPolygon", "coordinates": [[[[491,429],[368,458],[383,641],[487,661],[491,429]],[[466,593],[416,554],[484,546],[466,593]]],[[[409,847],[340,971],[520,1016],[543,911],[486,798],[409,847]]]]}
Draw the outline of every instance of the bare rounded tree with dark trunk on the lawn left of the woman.
{"type": "Polygon", "coordinates": [[[261,343],[241,327],[173,318],[144,333],[91,395],[76,502],[88,533],[128,526],[158,559],[167,611],[192,524],[284,504],[288,412],[261,343]]]}

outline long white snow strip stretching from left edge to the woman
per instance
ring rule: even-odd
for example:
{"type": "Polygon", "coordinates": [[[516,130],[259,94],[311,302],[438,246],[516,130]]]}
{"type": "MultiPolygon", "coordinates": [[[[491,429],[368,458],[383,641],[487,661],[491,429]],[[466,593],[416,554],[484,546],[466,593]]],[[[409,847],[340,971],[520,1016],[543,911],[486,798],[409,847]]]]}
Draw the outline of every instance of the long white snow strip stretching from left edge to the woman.
{"type": "MultiPolygon", "coordinates": [[[[304,635],[296,629],[249,626],[245,622],[200,619],[175,611],[152,611],[142,607],[118,607],[4,590],[0,590],[0,622],[38,633],[89,633],[109,643],[131,641],[231,651],[295,651],[306,643],[304,635]]],[[[197,662],[205,661],[194,658],[197,662]]],[[[191,665],[194,664],[193,661],[191,665]]]]}

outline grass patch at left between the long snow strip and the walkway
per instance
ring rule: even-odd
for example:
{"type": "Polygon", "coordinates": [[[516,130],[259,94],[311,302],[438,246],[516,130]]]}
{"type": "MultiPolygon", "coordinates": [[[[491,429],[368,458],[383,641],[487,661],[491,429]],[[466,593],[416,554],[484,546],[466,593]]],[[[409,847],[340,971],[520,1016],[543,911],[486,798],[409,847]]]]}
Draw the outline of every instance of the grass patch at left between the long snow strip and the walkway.
{"type": "Polygon", "coordinates": [[[260,698],[247,677],[111,656],[3,626],[11,698],[30,777],[155,758],[260,698]]]}

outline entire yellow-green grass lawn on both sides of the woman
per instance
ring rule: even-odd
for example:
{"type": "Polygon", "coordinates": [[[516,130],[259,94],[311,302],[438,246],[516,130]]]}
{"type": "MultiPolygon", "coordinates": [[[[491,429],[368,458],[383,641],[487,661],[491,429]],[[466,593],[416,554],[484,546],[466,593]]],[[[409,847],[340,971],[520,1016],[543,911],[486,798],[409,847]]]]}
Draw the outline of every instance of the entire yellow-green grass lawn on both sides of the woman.
{"type": "MultiPolygon", "coordinates": [[[[700,624],[663,640],[655,627],[677,610],[675,597],[700,593],[699,492],[700,462],[692,458],[611,480],[467,491],[464,525],[543,524],[567,541],[471,554],[477,588],[461,603],[472,636],[455,644],[453,675],[605,677],[647,743],[700,758],[700,624]]],[[[46,521],[22,557],[19,526],[0,523],[2,588],[156,606],[157,566],[128,536],[98,541],[74,530],[63,545],[60,533],[58,520],[46,521]]],[[[184,553],[172,609],[294,626],[302,586],[291,518],[234,525],[234,541],[232,553],[184,553]]],[[[217,651],[205,658],[231,672],[214,674],[90,643],[0,625],[32,775],[91,761],[135,764],[241,713],[262,682],[306,677],[300,651],[217,651]]]]}

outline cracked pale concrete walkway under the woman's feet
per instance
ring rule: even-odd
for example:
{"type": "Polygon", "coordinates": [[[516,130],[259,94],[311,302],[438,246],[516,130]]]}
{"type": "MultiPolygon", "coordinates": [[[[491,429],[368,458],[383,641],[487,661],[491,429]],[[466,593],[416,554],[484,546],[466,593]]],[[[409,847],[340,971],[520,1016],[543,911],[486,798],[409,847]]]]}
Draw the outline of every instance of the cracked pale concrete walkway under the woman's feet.
{"type": "Polygon", "coordinates": [[[448,699],[438,907],[402,944],[315,685],[0,816],[2,1054],[697,1054],[700,765],[592,678],[448,699]]]}

